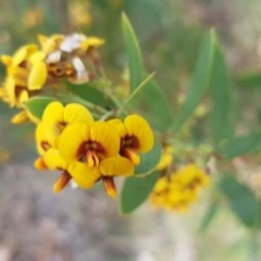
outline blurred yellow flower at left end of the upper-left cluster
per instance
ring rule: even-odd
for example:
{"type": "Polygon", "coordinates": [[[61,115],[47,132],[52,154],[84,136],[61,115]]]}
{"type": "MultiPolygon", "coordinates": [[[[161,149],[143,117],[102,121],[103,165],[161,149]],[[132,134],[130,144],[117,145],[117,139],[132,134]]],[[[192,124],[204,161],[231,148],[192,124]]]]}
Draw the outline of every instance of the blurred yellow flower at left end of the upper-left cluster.
{"type": "Polygon", "coordinates": [[[24,108],[24,102],[42,88],[47,79],[44,55],[35,45],[21,47],[13,57],[3,55],[8,75],[1,87],[1,98],[10,107],[24,108]]]}

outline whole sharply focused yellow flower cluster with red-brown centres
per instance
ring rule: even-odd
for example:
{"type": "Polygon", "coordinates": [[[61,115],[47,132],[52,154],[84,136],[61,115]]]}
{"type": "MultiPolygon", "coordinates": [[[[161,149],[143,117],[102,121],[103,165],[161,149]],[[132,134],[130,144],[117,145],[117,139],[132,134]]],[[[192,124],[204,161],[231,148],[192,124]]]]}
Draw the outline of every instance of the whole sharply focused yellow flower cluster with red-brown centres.
{"type": "Polygon", "coordinates": [[[115,176],[134,174],[140,163],[139,153],[153,147],[153,133],[148,122],[136,114],[123,121],[95,121],[78,103],[65,107],[50,102],[36,128],[40,157],[38,170],[61,170],[53,186],[60,191],[73,179],[80,188],[91,188],[102,181],[107,192],[115,197],[115,176]]]}

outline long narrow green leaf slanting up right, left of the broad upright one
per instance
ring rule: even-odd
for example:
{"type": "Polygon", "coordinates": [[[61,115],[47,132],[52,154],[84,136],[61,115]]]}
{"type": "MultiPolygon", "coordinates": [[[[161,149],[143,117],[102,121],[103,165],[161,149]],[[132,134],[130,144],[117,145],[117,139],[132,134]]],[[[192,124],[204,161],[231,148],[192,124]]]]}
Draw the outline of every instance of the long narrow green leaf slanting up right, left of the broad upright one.
{"type": "Polygon", "coordinates": [[[182,104],[173,124],[174,130],[178,130],[183,123],[189,119],[209,87],[210,73],[213,64],[214,41],[215,34],[211,30],[202,41],[200,55],[196,63],[186,100],[182,104]]]}

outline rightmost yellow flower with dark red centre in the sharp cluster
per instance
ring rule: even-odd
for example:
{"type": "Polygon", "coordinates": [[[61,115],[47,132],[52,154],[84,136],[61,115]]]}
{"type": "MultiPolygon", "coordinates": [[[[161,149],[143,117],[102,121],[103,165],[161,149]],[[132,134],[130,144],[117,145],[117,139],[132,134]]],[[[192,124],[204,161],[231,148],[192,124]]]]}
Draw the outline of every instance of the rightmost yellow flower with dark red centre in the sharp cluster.
{"type": "Polygon", "coordinates": [[[120,154],[129,159],[134,165],[138,165],[140,163],[138,153],[148,152],[153,147],[154,138],[149,123],[136,114],[126,116],[124,122],[116,119],[109,123],[114,125],[120,134],[120,154]]]}

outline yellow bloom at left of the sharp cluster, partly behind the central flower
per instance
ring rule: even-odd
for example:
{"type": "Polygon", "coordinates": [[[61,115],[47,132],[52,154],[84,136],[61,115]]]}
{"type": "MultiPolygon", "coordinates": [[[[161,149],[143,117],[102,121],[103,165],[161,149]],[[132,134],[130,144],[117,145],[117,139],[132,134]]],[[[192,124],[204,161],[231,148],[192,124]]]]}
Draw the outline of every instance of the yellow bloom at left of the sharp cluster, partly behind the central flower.
{"type": "Polygon", "coordinates": [[[77,103],[65,107],[59,101],[50,102],[42,115],[42,121],[36,128],[37,149],[40,157],[35,166],[38,170],[62,170],[63,173],[53,186],[54,191],[61,190],[72,178],[67,172],[69,162],[59,153],[59,137],[63,129],[74,123],[92,123],[89,111],[77,103]],[[65,183],[66,181],[66,183],[65,183]]]}

